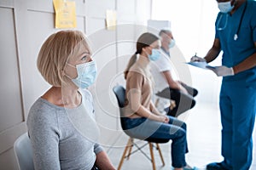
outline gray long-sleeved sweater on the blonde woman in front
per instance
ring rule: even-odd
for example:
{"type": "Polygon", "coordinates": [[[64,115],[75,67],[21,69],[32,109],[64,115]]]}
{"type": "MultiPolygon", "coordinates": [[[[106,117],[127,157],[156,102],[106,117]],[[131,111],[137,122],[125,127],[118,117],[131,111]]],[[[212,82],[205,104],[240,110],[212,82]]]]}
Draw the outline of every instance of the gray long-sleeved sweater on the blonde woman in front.
{"type": "Polygon", "coordinates": [[[27,127],[36,169],[90,170],[102,147],[96,143],[96,126],[92,96],[80,90],[82,104],[67,109],[39,98],[29,111],[27,127]]]}

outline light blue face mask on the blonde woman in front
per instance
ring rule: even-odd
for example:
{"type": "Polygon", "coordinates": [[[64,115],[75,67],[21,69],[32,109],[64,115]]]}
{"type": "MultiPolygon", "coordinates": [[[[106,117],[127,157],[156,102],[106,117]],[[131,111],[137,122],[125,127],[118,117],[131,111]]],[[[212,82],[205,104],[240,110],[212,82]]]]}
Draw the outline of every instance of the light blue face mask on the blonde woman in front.
{"type": "Polygon", "coordinates": [[[78,71],[78,77],[72,79],[72,81],[79,88],[88,88],[96,80],[97,68],[96,62],[90,61],[80,65],[76,65],[78,71]]]}

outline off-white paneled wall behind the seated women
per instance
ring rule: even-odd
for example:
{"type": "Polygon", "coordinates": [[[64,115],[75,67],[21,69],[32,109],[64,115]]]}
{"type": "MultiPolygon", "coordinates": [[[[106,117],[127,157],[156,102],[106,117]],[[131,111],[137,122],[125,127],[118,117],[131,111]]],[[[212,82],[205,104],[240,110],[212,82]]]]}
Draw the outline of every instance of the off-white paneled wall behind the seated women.
{"type": "MultiPolygon", "coordinates": [[[[99,75],[90,88],[96,119],[107,151],[119,134],[119,112],[112,88],[124,83],[122,72],[135,52],[134,42],[145,31],[151,0],[76,0],[80,31],[89,37],[99,75]],[[117,29],[105,29],[107,9],[117,11],[117,29]],[[140,26],[137,26],[140,25],[140,26]],[[143,26],[141,26],[143,25],[143,26]]],[[[36,60],[44,40],[55,31],[51,0],[0,0],[0,169],[17,169],[13,144],[26,132],[32,103],[49,88],[36,60]]]]}

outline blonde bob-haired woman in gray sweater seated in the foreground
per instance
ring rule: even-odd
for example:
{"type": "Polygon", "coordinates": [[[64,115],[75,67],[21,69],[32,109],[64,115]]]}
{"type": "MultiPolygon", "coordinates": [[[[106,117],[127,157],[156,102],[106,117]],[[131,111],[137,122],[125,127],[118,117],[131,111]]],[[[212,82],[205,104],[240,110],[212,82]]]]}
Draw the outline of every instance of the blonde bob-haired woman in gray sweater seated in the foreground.
{"type": "Polygon", "coordinates": [[[81,31],[58,31],[38,54],[38,70],[52,86],[27,118],[35,169],[114,169],[97,144],[92,95],[96,62],[81,31]]]}

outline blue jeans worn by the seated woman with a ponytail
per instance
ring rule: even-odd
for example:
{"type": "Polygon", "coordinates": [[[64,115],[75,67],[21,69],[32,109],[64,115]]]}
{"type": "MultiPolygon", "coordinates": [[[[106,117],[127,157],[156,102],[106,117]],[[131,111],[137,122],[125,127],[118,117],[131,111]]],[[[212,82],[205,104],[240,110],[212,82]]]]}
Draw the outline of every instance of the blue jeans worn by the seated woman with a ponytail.
{"type": "Polygon", "coordinates": [[[185,153],[188,152],[186,124],[169,116],[168,123],[156,122],[145,117],[123,117],[125,133],[136,139],[172,139],[172,167],[185,167],[185,153]]]}

